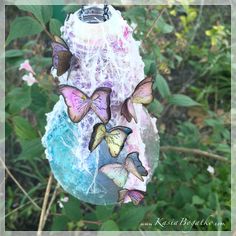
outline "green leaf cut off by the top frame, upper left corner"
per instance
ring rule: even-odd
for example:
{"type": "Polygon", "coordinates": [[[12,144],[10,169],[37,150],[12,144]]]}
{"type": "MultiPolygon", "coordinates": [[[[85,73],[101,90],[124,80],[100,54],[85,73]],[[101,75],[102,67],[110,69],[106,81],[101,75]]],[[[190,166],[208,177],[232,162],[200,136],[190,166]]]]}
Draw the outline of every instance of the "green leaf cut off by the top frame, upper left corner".
{"type": "Polygon", "coordinates": [[[31,12],[42,24],[46,24],[52,17],[50,5],[17,5],[20,10],[31,12]]]}

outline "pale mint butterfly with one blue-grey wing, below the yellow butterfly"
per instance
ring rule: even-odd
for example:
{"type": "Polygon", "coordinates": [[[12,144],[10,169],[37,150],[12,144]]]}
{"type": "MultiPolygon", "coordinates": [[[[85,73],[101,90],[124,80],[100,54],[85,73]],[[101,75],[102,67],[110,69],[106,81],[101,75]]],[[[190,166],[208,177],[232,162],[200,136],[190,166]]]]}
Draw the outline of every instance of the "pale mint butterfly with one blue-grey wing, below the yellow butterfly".
{"type": "Polygon", "coordinates": [[[129,173],[135,175],[141,181],[142,176],[147,176],[148,172],[143,167],[141,161],[138,158],[138,152],[132,152],[125,158],[124,164],[112,163],[100,167],[100,171],[103,172],[108,178],[119,186],[123,187],[128,179],[129,173]]]}

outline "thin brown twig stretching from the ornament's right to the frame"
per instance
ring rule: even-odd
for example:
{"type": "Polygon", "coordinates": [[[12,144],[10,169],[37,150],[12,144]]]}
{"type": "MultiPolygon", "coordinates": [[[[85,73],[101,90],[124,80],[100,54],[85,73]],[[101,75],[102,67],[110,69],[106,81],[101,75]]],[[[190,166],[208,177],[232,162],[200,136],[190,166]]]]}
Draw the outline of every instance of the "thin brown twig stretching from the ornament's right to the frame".
{"type": "Polygon", "coordinates": [[[183,152],[183,153],[189,153],[189,154],[193,154],[193,155],[198,155],[198,156],[202,156],[202,157],[206,157],[209,159],[214,159],[217,161],[223,161],[223,162],[227,162],[230,163],[230,160],[219,156],[217,154],[213,154],[213,153],[209,153],[206,151],[202,151],[199,149],[192,149],[192,148],[185,148],[185,147],[172,147],[172,146],[162,146],[160,147],[160,151],[162,152],[166,152],[166,151],[174,151],[174,152],[183,152]]]}

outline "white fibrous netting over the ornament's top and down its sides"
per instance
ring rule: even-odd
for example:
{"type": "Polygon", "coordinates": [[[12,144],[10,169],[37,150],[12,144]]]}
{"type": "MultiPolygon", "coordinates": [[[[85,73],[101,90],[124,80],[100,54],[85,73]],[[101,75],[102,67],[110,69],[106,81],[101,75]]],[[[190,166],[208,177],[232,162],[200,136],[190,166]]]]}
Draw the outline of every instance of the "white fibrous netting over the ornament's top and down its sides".
{"type": "MultiPolygon", "coordinates": [[[[152,175],[157,161],[151,157],[149,160],[146,153],[145,138],[149,142],[158,140],[157,130],[155,129],[155,119],[151,118],[142,105],[135,105],[138,123],[127,123],[120,116],[121,104],[129,97],[136,85],[144,79],[144,63],[139,54],[139,42],[132,37],[132,29],[123,20],[119,11],[109,6],[111,18],[103,23],[88,24],[79,20],[78,12],[71,14],[61,28],[62,38],[68,44],[70,51],[79,58],[79,67],[73,68],[69,80],[67,73],[59,77],[60,84],[69,84],[85,92],[88,96],[98,87],[110,87],[111,93],[111,112],[112,117],[109,122],[111,127],[124,125],[132,128],[133,134],[127,139],[125,153],[138,151],[140,160],[149,171],[149,176],[141,182],[132,175],[126,183],[127,188],[146,190],[146,183],[152,175]],[[149,137],[150,136],[150,137],[149,137]],[[156,138],[153,138],[156,137],[156,138]]],[[[55,70],[52,74],[55,76],[55,70]]],[[[50,123],[53,117],[60,114],[62,110],[67,110],[64,100],[60,99],[54,107],[52,113],[48,114],[47,133],[50,132],[50,123]]],[[[71,122],[68,118],[68,122],[71,122]]],[[[87,167],[89,158],[88,143],[93,130],[93,126],[100,122],[98,117],[91,111],[86,117],[77,124],[80,137],[73,147],[74,155],[77,157],[76,168],[89,169],[87,167]]],[[[147,142],[147,141],[146,141],[147,142]]],[[[151,144],[150,144],[151,145],[151,144]]],[[[98,151],[96,160],[98,165],[98,151]]],[[[50,156],[50,158],[53,158],[50,156]]],[[[158,157],[157,157],[158,158],[158,157]]],[[[95,172],[95,174],[97,171],[95,172]]],[[[94,177],[95,181],[96,175],[94,177]]]]}

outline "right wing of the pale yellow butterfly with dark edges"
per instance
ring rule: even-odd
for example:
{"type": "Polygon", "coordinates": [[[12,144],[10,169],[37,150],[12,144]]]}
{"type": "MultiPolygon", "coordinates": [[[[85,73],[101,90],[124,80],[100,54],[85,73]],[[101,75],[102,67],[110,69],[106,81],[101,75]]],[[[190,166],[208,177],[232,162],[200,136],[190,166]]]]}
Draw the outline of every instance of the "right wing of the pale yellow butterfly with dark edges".
{"type": "Polygon", "coordinates": [[[132,130],[128,127],[117,126],[109,130],[105,137],[112,157],[117,157],[124,147],[124,143],[132,130]]]}

